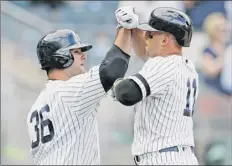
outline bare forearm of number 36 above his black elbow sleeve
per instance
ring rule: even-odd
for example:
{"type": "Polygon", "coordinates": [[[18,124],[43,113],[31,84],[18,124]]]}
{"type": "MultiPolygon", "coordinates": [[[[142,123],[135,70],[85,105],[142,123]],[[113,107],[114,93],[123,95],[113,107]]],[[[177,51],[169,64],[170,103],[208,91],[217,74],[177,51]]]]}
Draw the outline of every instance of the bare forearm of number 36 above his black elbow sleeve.
{"type": "Polygon", "coordinates": [[[117,31],[114,44],[129,55],[131,52],[131,30],[120,28],[117,31]]]}

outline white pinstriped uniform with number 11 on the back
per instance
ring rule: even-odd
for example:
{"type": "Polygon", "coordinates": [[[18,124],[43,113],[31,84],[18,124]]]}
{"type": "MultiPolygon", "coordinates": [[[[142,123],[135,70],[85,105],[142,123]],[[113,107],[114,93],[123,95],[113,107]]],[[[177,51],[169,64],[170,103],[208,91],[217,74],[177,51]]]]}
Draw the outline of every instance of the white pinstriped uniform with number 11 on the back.
{"type": "Polygon", "coordinates": [[[193,107],[198,95],[198,74],[186,57],[170,55],[149,59],[139,74],[150,87],[130,76],[141,88],[143,100],[135,105],[132,154],[138,165],[198,164],[194,146],[193,107]],[[179,152],[159,152],[177,146],[179,152]],[[185,150],[181,146],[186,146],[185,150]]]}

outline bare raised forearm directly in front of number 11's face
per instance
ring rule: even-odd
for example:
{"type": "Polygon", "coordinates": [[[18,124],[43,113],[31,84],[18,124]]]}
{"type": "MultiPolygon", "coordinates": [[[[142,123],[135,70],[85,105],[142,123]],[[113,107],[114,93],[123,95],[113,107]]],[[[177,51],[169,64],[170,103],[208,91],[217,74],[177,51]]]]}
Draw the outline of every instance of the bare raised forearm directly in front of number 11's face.
{"type": "Polygon", "coordinates": [[[147,56],[145,50],[146,42],[144,38],[144,31],[137,28],[132,29],[132,46],[135,54],[146,61],[147,56]]]}

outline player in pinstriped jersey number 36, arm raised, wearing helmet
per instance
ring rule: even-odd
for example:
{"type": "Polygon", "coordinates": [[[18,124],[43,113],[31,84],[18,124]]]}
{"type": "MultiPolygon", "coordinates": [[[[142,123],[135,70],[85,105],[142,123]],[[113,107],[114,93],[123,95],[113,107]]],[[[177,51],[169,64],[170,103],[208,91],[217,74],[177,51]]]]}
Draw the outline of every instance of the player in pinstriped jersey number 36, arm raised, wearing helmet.
{"type": "Polygon", "coordinates": [[[28,113],[31,154],[36,165],[99,165],[96,107],[130,59],[131,30],[119,29],[112,48],[98,66],[84,73],[84,52],[71,30],[45,35],[37,55],[48,81],[28,113]]]}

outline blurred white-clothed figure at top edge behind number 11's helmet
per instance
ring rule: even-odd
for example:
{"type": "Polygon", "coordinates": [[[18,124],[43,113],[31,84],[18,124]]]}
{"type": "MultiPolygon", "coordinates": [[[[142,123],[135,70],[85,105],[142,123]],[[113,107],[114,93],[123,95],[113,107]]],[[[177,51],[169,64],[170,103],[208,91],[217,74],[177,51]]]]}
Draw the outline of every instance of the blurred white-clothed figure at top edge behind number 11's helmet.
{"type": "Polygon", "coordinates": [[[140,22],[148,21],[149,14],[157,7],[173,7],[184,11],[183,1],[120,1],[119,7],[134,6],[140,22]]]}

